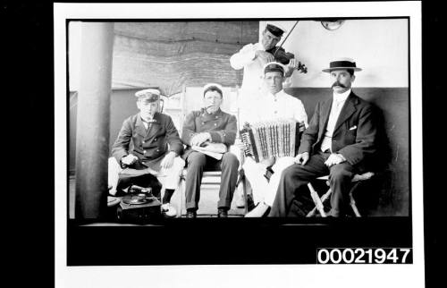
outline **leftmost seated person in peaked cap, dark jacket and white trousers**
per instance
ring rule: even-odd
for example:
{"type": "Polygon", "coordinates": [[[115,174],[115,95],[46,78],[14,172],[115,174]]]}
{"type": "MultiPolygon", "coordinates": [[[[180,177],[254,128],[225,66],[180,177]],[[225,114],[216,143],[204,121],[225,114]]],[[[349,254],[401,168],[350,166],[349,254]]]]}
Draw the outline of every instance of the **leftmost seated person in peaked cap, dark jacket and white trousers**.
{"type": "Polygon", "coordinates": [[[169,115],[157,112],[160,92],[144,89],[135,93],[139,113],[124,120],[109,159],[111,194],[132,184],[147,188],[154,177],[164,186],[162,212],[176,216],[170,204],[180,182],[184,161],[179,132],[169,115]]]}

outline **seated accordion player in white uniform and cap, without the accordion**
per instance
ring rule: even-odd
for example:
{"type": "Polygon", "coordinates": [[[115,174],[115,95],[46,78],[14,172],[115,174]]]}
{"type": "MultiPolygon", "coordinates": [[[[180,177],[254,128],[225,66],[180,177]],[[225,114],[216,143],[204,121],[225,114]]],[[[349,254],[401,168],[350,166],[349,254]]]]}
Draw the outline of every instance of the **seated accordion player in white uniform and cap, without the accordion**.
{"type": "MultiPolygon", "coordinates": [[[[252,103],[253,113],[241,114],[242,121],[248,123],[265,122],[284,118],[294,119],[300,123],[300,130],[308,126],[308,115],[301,101],[287,94],[283,90],[285,67],[276,62],[268,63],[264,67],[263,90],[257,102],[252,103]]],[[[260,217],[272,205],[278,188],[281,173],[293,164],[294,157],[276,157],[256,163],[251,157],[245,158],[242,165],[249,180],[253,200],[257,207],[246,216],[260,217]],[[271,166],[274,174],[267,181],[266,168],[271,166]]]]}

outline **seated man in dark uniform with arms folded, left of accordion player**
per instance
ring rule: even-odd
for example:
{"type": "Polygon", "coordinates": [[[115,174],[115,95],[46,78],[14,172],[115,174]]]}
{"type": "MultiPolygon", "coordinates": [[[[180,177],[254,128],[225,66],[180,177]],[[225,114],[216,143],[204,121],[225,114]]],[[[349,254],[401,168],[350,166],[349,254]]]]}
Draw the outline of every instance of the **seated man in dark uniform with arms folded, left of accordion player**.
{"type": "Polygon", "coordinates": [[[228,216],[227,211],[232,203],[238,178],[239,161],[234,154],[226,151],[234,144],[237,123],[235,116],[224,113],[220,109],[223,100],[222,91],[219,84],[207,84],[203,89],[204,108],[188,114],[183,123],[181,140],[187,145],[182,156],[188,169],[186,174],[187,217],[197,216],[200,184],[204,170],[222,171],[217,216],[228,216]],[[212,145],[221,143],[220,146],[223,147],[221,159],[209,157],[194,149],[207,146],[209,143],[212,145]]]}

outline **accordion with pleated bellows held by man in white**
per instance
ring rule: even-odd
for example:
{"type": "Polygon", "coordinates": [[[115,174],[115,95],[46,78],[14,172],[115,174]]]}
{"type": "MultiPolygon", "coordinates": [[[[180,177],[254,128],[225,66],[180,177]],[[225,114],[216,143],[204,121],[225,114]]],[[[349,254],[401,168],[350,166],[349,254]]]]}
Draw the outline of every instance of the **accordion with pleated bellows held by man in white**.
{"type": "Polygon", "coordinates": [[[300,138],[299,123],[292,119],[245,123],[240,131],[245,156],[257,163],[272,157],[295,157],[300,138]]]}

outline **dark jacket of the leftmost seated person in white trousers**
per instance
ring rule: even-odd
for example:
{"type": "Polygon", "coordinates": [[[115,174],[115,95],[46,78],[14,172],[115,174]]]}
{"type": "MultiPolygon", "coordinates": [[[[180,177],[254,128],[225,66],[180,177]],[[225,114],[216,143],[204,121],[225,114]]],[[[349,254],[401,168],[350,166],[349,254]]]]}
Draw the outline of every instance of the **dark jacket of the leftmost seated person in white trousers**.
{"type": "Polygon", "coordinates": [[[139,164],[159,170],[160,162],[169,151],[177,155],[183,152],[179,132],[169,115],[156,113],[155,120],[150,124],[148,131],[144,127],[139,114],[132,115],[124,120],[118,138],[114,142],[112,155],[121,164],[121,158],[128,154],[139,157],[139,164]],[[131,146],[132,143],[132,146],[131,146]]]}

